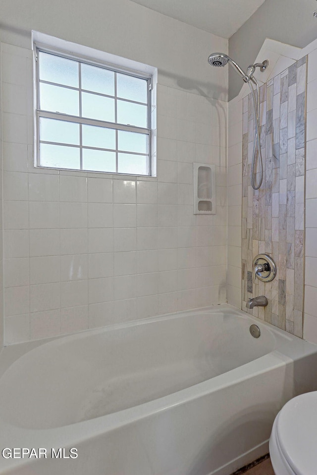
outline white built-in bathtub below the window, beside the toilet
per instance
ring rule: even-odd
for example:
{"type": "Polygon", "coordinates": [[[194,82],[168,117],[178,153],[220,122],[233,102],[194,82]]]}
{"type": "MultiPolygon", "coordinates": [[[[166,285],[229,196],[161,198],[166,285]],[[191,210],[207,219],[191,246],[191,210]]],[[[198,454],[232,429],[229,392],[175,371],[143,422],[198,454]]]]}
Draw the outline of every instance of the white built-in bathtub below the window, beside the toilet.
{"type": "Polygon", "coordinates": [[[47,450],[0,457],[0,474],[229,475],[268,452],[288,399],[317,390],[317,346],[229,305],[0,356],[0,448],[47,450]]]}

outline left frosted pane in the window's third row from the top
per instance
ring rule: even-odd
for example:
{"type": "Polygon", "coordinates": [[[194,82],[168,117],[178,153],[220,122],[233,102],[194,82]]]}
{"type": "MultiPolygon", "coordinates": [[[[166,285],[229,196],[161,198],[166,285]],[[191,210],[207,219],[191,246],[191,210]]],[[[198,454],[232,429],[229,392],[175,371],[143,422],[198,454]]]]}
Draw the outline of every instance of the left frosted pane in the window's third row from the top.
{"type": "Polygon", "coordinates": [[[79,124],[64,120],[40,118],[41,141],[79,145],[79,124]]]}

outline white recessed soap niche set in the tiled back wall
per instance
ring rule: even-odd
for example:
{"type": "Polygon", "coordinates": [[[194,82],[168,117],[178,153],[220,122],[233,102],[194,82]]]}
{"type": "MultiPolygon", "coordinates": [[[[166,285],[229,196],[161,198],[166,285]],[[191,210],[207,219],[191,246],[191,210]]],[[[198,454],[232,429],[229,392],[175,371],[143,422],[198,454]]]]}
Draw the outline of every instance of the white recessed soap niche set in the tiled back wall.
{"type": "Polygon", "coordinates": [[[215,214],[215,166],[193,164],[194,214],[215,214]]]}

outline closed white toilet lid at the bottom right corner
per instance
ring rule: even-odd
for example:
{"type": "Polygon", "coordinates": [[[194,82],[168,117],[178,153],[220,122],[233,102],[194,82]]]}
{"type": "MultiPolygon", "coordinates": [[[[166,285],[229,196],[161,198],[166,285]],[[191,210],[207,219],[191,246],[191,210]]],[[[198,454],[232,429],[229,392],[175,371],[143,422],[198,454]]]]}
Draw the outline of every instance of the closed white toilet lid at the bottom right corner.
{"type": "Polygon", "coordinates": [[[285,404],[276,421],[276,436],[297,475],[317,474],[317,391],[285,404]]]}

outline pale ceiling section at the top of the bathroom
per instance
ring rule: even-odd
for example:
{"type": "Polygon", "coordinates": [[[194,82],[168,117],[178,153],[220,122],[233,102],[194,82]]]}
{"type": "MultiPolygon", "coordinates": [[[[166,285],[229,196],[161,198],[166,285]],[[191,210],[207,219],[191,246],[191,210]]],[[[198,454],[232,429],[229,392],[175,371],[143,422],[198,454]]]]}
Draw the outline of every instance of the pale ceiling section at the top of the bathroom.
{"type": "Polygon", "coordinates": [[[132,0],[163,15],[230,38],[265,0],[132,0]]]}

